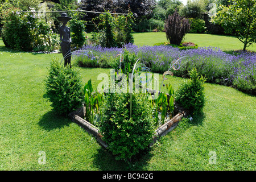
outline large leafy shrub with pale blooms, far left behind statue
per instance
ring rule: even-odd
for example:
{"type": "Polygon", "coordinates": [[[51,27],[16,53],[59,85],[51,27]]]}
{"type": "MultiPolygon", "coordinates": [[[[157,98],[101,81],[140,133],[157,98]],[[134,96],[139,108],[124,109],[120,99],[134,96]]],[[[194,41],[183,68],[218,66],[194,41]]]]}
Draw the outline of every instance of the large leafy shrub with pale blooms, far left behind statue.
{"type": "Polygon", "coordinates": [[[50,37],[53,34],[51,22],[46,23],[34,9],[29,13],[18,11],[15,7],[2,11],[2,37],[5,45],[19,51],[46,51],[50,48],[50,37]]]}

